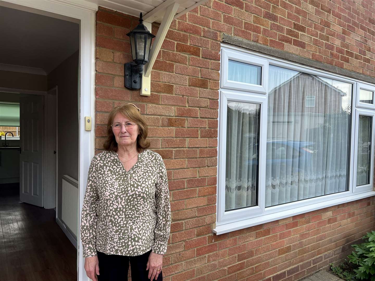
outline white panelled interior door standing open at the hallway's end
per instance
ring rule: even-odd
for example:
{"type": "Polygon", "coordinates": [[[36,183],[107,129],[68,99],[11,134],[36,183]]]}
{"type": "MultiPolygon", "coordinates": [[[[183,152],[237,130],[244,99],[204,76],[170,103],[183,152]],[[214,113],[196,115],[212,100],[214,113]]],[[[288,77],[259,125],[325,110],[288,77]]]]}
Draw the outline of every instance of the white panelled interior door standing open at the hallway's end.
{"type": "Polygon", "coordinates": [[[20,201],[44,206],[44,96],[20,98],[20,201]]]}

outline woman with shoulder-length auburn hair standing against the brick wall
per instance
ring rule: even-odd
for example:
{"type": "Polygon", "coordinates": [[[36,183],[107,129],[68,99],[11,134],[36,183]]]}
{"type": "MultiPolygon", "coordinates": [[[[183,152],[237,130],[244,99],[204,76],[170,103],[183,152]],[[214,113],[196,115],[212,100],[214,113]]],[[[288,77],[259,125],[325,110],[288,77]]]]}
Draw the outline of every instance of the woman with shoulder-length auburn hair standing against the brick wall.
{"type": "Polygon", "coordinates": [[[170,226],[162,157],[147,149],[147,125],[132,103],[113,109],[105,151],[91,161],[81,220],[86,274],[92,280],[162,280],[170,226]]]}

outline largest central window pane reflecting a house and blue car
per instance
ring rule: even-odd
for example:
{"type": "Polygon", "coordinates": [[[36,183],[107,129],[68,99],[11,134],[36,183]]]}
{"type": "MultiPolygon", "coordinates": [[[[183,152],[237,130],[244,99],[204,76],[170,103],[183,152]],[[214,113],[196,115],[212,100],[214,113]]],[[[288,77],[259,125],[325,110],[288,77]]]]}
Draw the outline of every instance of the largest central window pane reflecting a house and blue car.
{"type": "Polygon", "coordinates": [[[269,89],[266,206],[348,190],[352,85],[270,66],[269,89]]]}

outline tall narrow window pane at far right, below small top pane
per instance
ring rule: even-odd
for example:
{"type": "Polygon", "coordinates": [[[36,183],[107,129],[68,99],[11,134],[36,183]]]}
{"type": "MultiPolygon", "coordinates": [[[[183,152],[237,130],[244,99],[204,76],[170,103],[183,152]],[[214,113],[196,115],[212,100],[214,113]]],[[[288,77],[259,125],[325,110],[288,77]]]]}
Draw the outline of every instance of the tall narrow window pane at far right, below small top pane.
{"type": "Polygon", "coordinates": [[[372,117],[359,115],[357,186],[370,184],[372,117]]]}

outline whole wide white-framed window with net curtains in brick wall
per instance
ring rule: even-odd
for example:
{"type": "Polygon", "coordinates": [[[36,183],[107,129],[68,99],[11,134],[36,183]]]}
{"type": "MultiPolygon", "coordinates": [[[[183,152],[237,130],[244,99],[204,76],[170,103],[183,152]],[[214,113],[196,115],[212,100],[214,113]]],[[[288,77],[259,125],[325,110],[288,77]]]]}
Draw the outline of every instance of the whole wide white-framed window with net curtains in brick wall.
{"type": "Polygon", "coordinates": [[[375,86],[222,45],[217,234],[374,196],[375,86]]]}

